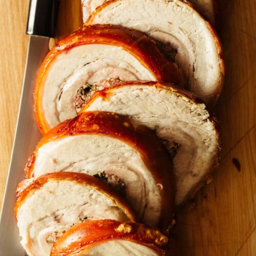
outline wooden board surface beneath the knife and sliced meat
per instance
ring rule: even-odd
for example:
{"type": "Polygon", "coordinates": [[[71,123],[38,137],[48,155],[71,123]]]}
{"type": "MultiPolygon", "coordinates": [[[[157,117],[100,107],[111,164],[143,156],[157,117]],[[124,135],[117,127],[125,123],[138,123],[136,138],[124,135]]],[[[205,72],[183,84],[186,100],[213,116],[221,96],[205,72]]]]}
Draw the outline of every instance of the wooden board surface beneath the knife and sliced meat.
{"type": "MultiPolygon", "coordinates": [[[[217,107],[222,159],[214,180],[177,213],[180,255],[256,255],[256,1],[220,2],[226,60],[226,81],[217,107]]],[[[79,8],[79,0],[61,0],[59,36],[79,26],[79,8]]],[[[28,45],[28,0],[0,0],[0,10],[2,203],[28,45]]]]}

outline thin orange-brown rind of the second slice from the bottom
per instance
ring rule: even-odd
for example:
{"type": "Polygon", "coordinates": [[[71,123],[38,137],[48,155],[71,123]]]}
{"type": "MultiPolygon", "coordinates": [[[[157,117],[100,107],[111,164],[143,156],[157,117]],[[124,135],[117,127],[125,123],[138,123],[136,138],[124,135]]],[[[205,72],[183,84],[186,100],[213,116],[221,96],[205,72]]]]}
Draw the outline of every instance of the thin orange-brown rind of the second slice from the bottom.
{"type": "Polygon", "coordinates": [[[120,205],[125,210],[126,216],[131,221],[136,221],[137,217],[133,211],[133,209],[129,206],[129,204],[126,203],[126,201],[119,196],[116,191],[107,184],[100,182],[96,178],[82,173],[73,173],[73,172],[59,172],[59,173],[52,173],[52,174],[46,174],[38,177],[37,179],[30,179],[30,180],[24,180],[19,183],[16,191],[17,199],[14,206],[14,214],[15,218],[17,217],[17,211],[26,200],[26,197],[29,196],[29,194],[34,190],[40,188],[42,185],[44,185],[46,182],[54,180],[54,181],[63,181],[63,180],[69,180],[69,181],[75,181],[84,185],[89,185],[99,191],[101,193],[104,193],[106,196],[112,198],[117,205],[120,205]]]}

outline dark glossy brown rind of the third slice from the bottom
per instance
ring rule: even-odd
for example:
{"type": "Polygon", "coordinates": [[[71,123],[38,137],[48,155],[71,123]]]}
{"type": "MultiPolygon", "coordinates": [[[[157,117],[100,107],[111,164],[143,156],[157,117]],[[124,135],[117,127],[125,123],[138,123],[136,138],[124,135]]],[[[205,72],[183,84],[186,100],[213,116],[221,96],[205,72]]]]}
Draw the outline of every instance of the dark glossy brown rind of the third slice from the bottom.
{"type": "Polygon", "coordinates": [[[58,124],[37,144],[25,168],[27,178],[33,177],[33,165],[40,146],[61,137],[81,134],[110,136],[135,148],[145,165],[151,170],[156,183],[160,183],[163,186],[160,190],[162,212],[158,226],[161,230],[165,230],[174,214],[175,181],[172,172],[172,161],[166,148],[153,131],[142,125],[134,127],[126,116],[111,112],[92,111],[80,113],[75,118],[58,124]]]}

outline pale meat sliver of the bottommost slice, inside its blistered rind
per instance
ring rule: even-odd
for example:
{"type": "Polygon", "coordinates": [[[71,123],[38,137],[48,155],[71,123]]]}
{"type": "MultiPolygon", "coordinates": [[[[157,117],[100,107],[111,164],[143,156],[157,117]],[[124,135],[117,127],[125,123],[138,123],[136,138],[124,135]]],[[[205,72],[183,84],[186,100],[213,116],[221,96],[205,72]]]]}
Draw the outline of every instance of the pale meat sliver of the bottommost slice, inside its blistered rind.
{"type": "Polygon", "coordinates": [[[106,242],[95,244],[89,249],[84,250],[79,254],[81,256],[120,256],[120,255],[131,255],[131,256],[159,256],[159,252],[153,250],[136,242],[113,239],[106,242]]]}

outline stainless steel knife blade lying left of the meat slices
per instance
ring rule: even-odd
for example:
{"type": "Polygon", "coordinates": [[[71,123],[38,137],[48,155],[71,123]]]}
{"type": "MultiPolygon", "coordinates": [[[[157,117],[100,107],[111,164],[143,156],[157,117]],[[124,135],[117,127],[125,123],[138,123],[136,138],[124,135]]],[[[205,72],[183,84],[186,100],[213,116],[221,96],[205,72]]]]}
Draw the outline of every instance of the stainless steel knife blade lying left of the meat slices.
{"type": "Polygon", "coordinates": [[[19,256],[25,253],[20,245],[13,206],[16,199],[16,187],[25,177],[25,164],[36,143],[41,138],[34,119],[33,91],[38,68],[48,52],[49,37],[34,35],[30,37],[18,120],[0,219],[0,254],[5,256],[19,256]],[[4,254],[2,254],[3,252],[4,254]]]}

